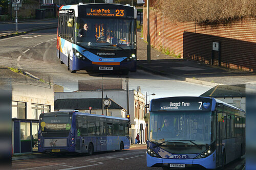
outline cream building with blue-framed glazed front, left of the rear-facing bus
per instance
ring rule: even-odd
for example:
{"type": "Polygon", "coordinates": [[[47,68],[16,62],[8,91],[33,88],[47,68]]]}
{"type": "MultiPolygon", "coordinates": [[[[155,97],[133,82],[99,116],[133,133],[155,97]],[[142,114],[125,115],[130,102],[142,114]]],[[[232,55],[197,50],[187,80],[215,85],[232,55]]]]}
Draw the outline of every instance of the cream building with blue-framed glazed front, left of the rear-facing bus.
{"type": "Polygon", "coordinates": [[[14,154],[37,151],[38,118],[54,109],[53,86],[24,83],[12,86],[12,147],[14,154]]]}

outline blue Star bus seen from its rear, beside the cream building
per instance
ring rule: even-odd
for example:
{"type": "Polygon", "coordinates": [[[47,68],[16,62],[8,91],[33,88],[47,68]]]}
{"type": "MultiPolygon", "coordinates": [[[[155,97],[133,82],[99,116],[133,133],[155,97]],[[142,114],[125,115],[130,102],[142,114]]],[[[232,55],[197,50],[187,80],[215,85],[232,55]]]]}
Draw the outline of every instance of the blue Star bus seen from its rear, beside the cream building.
{"type": "Polygon", "coordinates": [[[75,111],[42,113],[38,152],[88,153],[130,148],[129,119],[75,111]]]}

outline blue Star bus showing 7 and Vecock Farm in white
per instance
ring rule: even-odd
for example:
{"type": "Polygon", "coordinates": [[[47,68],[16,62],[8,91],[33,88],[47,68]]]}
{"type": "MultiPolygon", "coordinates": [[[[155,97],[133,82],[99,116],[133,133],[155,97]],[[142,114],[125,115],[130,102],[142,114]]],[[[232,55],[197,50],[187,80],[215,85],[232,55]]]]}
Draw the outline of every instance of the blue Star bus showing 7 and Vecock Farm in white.
{"type": "Polygon", "coordinates": [[[245,112],[215,98],[151,101],[149,167],[224,166],[245,153],[245,112]]]}

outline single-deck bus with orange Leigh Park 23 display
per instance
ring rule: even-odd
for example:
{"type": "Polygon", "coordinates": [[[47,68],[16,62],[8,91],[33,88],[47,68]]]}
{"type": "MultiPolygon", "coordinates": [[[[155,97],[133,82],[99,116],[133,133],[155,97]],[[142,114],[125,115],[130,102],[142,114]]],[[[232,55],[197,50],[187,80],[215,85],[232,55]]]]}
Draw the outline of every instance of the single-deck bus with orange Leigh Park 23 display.
{"type": "Polygon", "coordinates": [[[135,72],[137,10],[129,5],[61,6],[57,57],[68,70],[135,72]]]}

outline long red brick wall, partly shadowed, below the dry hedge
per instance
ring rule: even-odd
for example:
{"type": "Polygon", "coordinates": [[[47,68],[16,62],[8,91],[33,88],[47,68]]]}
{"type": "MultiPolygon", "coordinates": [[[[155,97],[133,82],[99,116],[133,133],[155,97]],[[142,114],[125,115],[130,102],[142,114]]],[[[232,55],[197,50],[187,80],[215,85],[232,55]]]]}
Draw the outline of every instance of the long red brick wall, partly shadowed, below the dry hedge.
{"type": "MultiPolygon", "coordinates": [[[[147,13],[143,8],[143,37],[147,36],[147,13]]],[[[221,44],[221,65],[256,70],[256,18],[243,18],[218,25],[172,22],[161,11],[150,10],[151,45],[164,47],[184,59],[219,65],[219,53],[212,52],[212,41],[221,44]],[[164,27],[163,27],[164,26],[164,27]]]]}

